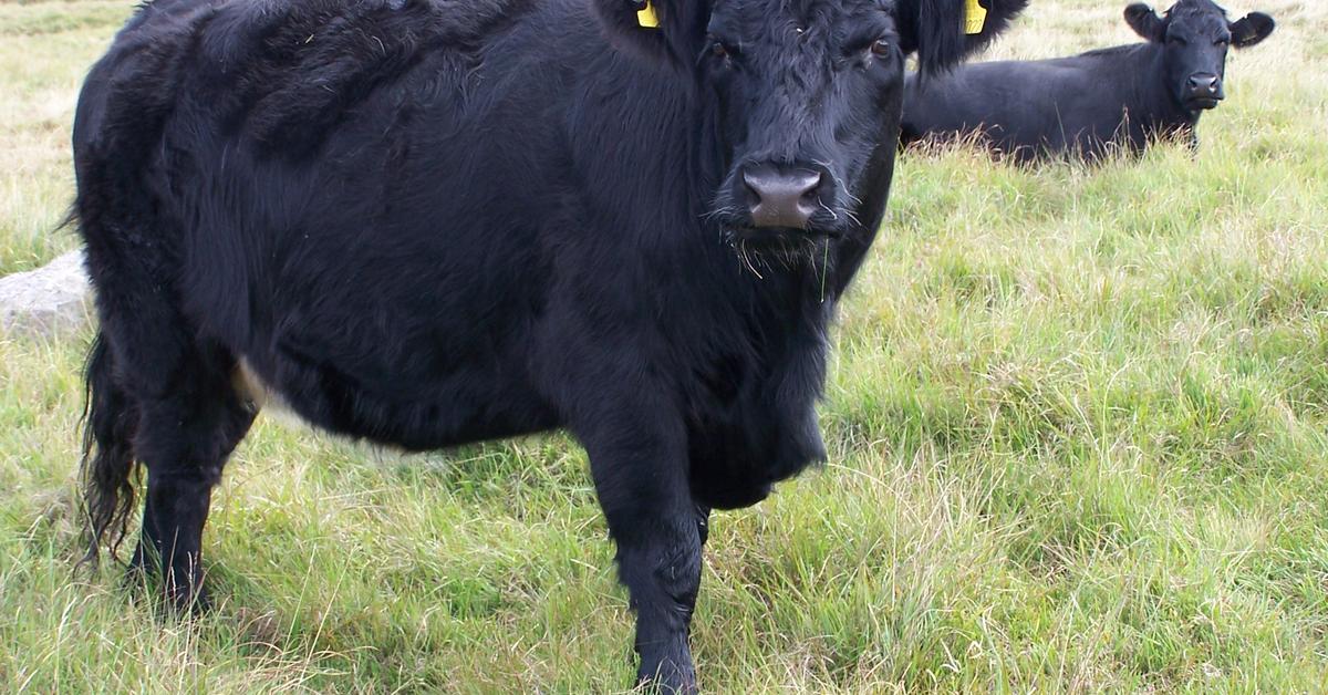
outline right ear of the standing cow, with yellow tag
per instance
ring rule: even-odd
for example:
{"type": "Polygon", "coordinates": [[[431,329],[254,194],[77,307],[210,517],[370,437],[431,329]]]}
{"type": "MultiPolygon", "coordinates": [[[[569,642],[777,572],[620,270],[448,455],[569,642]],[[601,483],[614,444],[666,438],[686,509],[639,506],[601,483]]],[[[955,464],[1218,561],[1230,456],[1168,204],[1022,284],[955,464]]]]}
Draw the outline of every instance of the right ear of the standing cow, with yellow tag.
{"type": "Polygon", "coordinates": [[[904,53],[918,53],[918,68],[952,68],[1005,31],[1028,0],[900,0],[895,23],[904,53]]]}

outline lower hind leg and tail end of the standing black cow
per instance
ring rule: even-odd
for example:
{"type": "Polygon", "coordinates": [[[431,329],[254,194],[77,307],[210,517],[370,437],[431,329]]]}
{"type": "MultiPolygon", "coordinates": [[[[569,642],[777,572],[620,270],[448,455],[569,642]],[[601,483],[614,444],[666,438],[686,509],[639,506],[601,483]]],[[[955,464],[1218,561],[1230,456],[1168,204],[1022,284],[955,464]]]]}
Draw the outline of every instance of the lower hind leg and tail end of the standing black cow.
{"type": "Polygon", "coordinates": [[[146,339],[150,332],[125,328],[104,315],[88,360],[84,484],[92,553],[101,542],[114,549],[124,536],[142,464],[147,489],[131,577],[159,581],[175,607],[201,609],[211,490],[254,411],[231,384],[234,359],[224,349],[191,343],[154,349],[161,343],[146,339]]]}

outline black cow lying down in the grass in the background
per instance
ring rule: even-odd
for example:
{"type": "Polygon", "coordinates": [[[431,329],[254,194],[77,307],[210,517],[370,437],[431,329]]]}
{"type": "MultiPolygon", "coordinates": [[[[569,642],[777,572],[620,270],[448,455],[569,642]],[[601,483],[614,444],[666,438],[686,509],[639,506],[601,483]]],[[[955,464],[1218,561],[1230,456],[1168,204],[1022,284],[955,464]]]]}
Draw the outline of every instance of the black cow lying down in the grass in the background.
{"type": "Polygon", "coordinates": [[[1274,27],[1260,12],[1230,23],[1210,0],[1181,0],[1165,17],[1133,4],[1125,21],[1147,43],[1056,60],[975,62],[940,78],[911,74],[902,142],[976,133],[977,142],[1019,161],[1137,153],[1158,138],[1193,145],[1199,114],[1224,97],[1227,47],[1255,45],[1274,27]]]}

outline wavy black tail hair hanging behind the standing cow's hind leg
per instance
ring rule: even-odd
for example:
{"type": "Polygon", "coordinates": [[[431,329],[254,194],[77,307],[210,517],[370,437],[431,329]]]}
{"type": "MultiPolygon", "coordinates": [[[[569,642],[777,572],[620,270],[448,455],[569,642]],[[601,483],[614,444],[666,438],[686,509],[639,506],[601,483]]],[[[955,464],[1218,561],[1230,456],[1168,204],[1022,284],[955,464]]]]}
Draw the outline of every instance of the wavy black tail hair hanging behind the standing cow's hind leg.
{"type": "Polygon", "coordinates": [[[80,484],[86,518],[88,555],[96,563],[102,542],[117,557],[125,540],[130,513],[135,509],[134,489],[138,465],[134,461],[137,407],[116,383],[114,364],[105,336],[97,334],[84,367],[84,436],[80,484]]]}

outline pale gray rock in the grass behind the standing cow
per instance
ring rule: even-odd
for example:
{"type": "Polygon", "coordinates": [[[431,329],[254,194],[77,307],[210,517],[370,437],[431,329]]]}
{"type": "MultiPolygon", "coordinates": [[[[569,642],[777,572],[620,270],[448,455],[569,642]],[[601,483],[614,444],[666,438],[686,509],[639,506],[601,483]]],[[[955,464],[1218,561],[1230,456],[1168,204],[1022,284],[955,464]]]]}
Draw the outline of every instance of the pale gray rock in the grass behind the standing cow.
{"type": "Polygon", "coordinates": [[[82,251],[0,278],[0,331],[48,336],[81,328],[90,319],[92,286],[82,251]]]}

